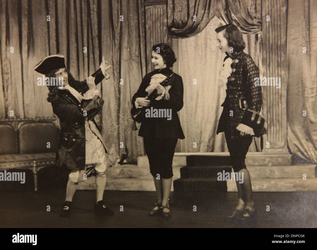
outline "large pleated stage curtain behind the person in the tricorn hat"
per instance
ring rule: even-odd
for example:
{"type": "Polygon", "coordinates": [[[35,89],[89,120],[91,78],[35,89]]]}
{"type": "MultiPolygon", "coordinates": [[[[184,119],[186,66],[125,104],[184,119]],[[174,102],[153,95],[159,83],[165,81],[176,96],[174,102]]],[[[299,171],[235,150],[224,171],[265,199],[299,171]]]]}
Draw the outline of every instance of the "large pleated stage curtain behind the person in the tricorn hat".
{"type": "Polygon", "coordinates": [[[113,67],[108,71],[110,79],[97,87],[105,103],[96,121],[111,153],[110,162],[123,152],[136,160],[131,99],[145,75],[139,3],[0,0],[0,117],[10,118],[11,110],[16,118],[54,116],[46,100],[48,88],[37,86],[41,75],[33,70],[44,57],[63,54],[74,78],[84,80],[105,56],[113,67]]]}

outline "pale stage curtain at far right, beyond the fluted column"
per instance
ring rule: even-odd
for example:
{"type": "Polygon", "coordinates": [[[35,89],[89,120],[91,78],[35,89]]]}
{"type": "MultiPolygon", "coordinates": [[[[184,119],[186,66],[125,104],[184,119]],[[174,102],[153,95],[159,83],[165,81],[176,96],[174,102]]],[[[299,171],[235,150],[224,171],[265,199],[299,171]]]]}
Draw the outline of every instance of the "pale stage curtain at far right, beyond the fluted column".
{"type": "Polygon", "coordinates": [[[288,0],[287,22],[288,146],[317,163],[317,0],[288,0]]]}

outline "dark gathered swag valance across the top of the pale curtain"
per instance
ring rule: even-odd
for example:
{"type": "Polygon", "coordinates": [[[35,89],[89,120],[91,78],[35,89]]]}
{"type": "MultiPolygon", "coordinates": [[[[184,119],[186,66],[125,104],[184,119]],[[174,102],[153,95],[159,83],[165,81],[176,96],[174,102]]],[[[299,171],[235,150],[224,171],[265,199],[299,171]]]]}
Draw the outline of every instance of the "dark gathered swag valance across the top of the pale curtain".
{"type": "Polygon", "coordinates": [[[198,34],[214,16],[225,23],[236,24],[243,33],[262,30],[260,0],[168,0],[167,14],[168,32],[174,38],[198,34]]]}

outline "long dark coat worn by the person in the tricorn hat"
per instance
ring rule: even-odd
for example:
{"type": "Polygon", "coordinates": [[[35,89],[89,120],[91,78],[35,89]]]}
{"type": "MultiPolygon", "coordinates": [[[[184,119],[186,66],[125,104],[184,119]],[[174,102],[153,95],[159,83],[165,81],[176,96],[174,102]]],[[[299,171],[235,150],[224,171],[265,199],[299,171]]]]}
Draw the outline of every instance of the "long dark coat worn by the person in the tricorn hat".
{"type": "MultiPolygon", "coordinates": [[[[96,77],[95,83],[98,84],[104,78],[99,69],[93,76],[96,77]]],[[[86,80],[69,82],[69,85],[76,89],[80,94],[89,90],[86,80]]],[[[84,170],[86,165],[86,136],[85,118],[94,122],[98,130],[94,117],[101,111],[104,101],[97,95],[93,99],[82,99],[79,102],[67,89],[58,92],[58,99],[53,101],[53,112],[60,119],[61,134],[56,152],[56,165],[63,167],[70,172],[71,170],[84,170]],[[87,116],[84,116],[87,111],[87,116]]],[[[105,147],[105,143],[101,138],[105,147]]]]}

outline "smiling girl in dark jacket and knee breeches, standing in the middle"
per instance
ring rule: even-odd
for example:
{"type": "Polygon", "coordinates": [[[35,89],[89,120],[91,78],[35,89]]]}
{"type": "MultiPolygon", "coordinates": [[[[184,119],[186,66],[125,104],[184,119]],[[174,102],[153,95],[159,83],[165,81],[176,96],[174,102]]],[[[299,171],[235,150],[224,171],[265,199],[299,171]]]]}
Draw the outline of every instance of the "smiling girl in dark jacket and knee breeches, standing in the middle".
{"type": "Polygon", "coordinates": [[[158,195],[158,202],[149,214],[168,217],[171,215],[168,199],[172,185],[175,147],[178,138],[185,138],[177,114],[183,107],[183,80],[170,69],[176,58],[169,45],[154,45],[151,58],[154,71],[143,78],[132,98],[132,106],[136,111],[146,107],[146,118],[142,121],[139,136],[143,137],[158,195]],[[164,87],[161,83],[164,83],[164,87]],[[148,99],[147,96],[153,91],[156,95],[148,99]]]}

